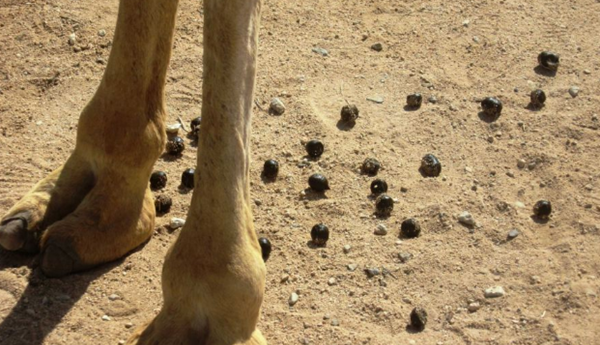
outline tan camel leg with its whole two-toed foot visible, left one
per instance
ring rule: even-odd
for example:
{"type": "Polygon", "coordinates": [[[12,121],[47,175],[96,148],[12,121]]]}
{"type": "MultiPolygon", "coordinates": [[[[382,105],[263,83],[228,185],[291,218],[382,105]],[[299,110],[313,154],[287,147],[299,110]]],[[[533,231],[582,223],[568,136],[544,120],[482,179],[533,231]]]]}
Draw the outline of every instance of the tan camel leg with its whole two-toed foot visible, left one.
{"type": "Polygon", "coordinates": [[[39,246],[49,276],[115,260],[152,234],[148,179],[166,140],[176,9],[176,0],[121,1],[106,71],[81,113],[71,157],[0,221],[0,245],[39,246]]]}

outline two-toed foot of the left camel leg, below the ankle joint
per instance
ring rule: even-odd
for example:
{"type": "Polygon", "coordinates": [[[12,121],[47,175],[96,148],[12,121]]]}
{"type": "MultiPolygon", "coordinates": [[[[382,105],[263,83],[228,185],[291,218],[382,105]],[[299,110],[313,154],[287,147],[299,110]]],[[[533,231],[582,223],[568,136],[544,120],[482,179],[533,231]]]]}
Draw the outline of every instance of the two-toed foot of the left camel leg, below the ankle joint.
{"type": "Polygon", "coordinates": [[[79,156],[75,152],[0,220],[0,246],[41,252],[41,269],[51,277],[118,259],[154,228],[146,172],[94,170],[79,156]]]}

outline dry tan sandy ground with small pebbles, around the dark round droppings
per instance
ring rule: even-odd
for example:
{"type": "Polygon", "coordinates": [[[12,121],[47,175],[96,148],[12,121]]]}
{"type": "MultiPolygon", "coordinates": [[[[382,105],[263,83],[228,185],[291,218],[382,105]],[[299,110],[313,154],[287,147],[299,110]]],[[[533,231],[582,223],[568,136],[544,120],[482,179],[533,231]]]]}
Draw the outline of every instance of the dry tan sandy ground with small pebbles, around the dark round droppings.
{"type": "MultiPolygon", "coordinates": [[[[180,1],[169,123],[201,107],[201,5],[180,1]]],[[[0,213],[73,148],[116,11],[116,0],[0,1],[0,213]]],[[[274,247],[259,324],[270,344],[598,344],[600,3],[266,0],[263,13],[256,99],[287,107],[282,116],[255,107],[253,120],[256,229],[274,247]],[[561,55],[555,76],[535,69],[542,50],[561,55]],[[548,95],[539,111],[527,108],[534,88],[548,95]],[[406,111],[413,92],[425,102],[406,111]],[[504,103],[492,123],[478,116],[487,96],[504,103]],[[350,130],[338,128],[346,100],[360,109],[350,130]],[[314,138],[325,153],[306,162],[302,143],[314,138]],[[438,178],[418,172],[427,153],[442,162],[438,178]],[[359,172],[367,157],[382,162],[397,199],[387,219],[373,217],[373,178],[359,172]],[[270,158],[281,171],[265,183],[270,158]],[[314,172],[329,179],[324,198],[302,196],[314,172]],[[547,223],[531,218],[539,199],[553,204],[547,223]],[[463,211],[474,228],[458,223],[463,211]],[[399,240],[407,217],[421,236],[399,240]],[[311,248],[319,222],[330,240],[311,248]],[[379,224],[387,235],[374,234],[379,224]],[[509,241],[512,229],[520,234],[509,241]],[[369,278],[365,268],[389,274],[369,278]],[[505,295],[485,298],[495,286],[505,295]],[[417,306],[429,315],[420,333],[406,328],[417,306]]],[[[195,162],[186,144],[182,158],[156,163],[171,212],[123,260],[58,280],[34,257],[0,252],[0,344],[118,344],[158,311],[163,257],[178,235],[166,225],[191,198],[178,189],[195,162]]]]}

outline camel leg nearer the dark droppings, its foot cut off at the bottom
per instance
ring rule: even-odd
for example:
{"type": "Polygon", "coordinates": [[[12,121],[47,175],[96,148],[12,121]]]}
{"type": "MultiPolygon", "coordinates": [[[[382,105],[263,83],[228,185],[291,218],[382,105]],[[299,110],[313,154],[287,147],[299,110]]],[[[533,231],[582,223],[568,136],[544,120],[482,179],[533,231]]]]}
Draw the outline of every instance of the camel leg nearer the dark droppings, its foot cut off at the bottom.
{"type": "Polygon", "coordinates": [[[204,0],[196,187],[165,259],[163,308],[129,344],[266,344],[256,329],[265,266],[249,196],[260,7],[260,0],[204,0]]]}

